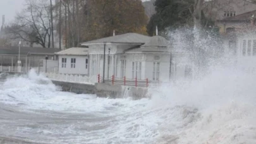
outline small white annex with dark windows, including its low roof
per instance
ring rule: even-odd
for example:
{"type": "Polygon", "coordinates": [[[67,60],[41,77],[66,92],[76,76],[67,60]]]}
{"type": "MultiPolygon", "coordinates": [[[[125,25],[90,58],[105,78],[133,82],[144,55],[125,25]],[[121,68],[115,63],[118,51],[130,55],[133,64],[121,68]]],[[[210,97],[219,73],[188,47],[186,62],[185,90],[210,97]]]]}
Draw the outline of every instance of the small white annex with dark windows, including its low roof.
{"type": "Polygon", "coordinates": [[[59,55],[59,73],[88,75],[88,49],[72,47],[57,52],[59,55]]]}

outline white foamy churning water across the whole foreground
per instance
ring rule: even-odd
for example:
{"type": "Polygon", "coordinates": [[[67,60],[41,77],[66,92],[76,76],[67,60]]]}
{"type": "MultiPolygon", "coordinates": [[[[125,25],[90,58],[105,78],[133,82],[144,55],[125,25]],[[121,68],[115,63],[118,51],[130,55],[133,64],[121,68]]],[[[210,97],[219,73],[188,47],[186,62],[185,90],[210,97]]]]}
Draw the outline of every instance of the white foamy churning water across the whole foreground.
{"type": "Polygon", "coordinates": [[[256,76],[218,69],[150,88],[151,99],[61,92],[30,71],[0,89],[4,143],[256,143],[256,76]],[[232,72],[232,73],[231,73],[232,72]]]}

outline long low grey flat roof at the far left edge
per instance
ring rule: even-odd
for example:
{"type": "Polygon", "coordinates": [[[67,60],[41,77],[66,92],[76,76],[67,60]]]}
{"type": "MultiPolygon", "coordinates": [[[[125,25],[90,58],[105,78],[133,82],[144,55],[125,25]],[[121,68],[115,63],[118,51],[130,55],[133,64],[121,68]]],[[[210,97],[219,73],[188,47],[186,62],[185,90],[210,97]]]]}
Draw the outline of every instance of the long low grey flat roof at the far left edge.
{"type": "MultiPolygon", "coordinates": [[[[40,47],[20,47],[20,55],[37,54],[51,55],[58,52],[60,49],[40,48],[40,47]]],[[[0,54],[18,55],[19,47],[0,47],[0,54]]]]}

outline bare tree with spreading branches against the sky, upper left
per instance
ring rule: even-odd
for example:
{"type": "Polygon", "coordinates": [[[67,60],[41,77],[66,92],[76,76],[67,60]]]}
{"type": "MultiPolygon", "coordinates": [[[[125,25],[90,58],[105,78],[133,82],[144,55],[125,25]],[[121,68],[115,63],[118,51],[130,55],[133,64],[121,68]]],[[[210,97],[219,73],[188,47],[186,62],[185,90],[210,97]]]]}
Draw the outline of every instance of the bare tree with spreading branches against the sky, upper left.
{"type": "Polygon", "coordinates": [[[16,16],[16,20],[7,32],[11,39],[21,39],[51,47],[51,15],[45,0],[27,0],[26,8],[16,16]]]}

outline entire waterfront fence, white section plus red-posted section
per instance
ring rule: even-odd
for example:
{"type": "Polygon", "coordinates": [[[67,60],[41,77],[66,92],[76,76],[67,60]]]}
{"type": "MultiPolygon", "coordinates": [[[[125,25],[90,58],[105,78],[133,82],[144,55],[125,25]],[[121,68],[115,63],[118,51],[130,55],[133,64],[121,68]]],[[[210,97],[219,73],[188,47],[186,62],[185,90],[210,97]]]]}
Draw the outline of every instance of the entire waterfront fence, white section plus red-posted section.
{"type": "Polygon", "coordinates": [[[110,85],[125,85],[131,87],[149,87],[150,85],[159,85],[160,81],[149,81],[148,78],[145,80],[138,80],[123,78],[116,78],[115,76],[111,76],[109,78],[103,78],[100,75],[97,76],[87,76],[87,75],[76,75],[76,74],[64,74],[59,73],[58,68],[44,68],[44,67],[21,67],[19,71],[18,67],[11,67],[11,66],[0,66],[0,72],[13,72],[13,73],[27,73],[30,69],[35,69],[36,73],[42,73],[47,76],[47,78],[56,81],[66,81],[71,83],[86,83],[90,85],[94,85],[94,83],[109,83],[110,85]]]}

